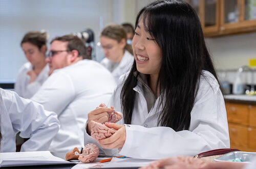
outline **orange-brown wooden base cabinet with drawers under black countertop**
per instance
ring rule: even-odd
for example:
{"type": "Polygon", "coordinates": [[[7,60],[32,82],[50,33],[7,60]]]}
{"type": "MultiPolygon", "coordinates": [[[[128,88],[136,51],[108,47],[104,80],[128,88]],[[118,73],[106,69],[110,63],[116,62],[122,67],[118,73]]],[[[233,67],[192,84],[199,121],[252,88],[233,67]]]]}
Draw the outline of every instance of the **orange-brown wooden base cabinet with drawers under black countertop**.
{"type": "Polygon", "coordinates": [[[256,105],[226,102],[230,147],[256,152],[256,105]]]}

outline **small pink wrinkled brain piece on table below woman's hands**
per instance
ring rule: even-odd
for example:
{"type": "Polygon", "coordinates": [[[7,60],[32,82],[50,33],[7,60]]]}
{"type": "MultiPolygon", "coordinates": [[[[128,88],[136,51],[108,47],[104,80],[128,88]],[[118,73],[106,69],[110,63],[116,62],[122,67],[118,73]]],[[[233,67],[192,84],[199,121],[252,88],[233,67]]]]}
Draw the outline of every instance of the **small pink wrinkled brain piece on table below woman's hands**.
{"type": "Polygon", "coordinates": [[[78,159],[83,163],[93,162],[99,155],[99,148],[95,144],[87,144],[79,154],[78,159]]]}

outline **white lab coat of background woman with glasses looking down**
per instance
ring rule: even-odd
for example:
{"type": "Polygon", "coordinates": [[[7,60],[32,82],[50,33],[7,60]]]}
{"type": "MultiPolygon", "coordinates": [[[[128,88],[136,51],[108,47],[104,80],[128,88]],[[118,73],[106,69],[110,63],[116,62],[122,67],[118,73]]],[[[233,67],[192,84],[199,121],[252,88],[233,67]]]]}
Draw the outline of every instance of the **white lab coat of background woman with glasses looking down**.
{"type": "MultiPolygon", "coordinates": [[[[116,82],[118,82],[118,79],[120,78],[121,75],[125,74],[126,72],[130,71],[132,65],[134,62],[134,57],[133,55],[125,50],[123,58],[119,65],[111,72],[112,75],[114,76],[116,82]]],[[[103,65],[106,69],[111,70],[111,61],[108,58],[104,58],[101,62],[101,65],[103,65]]]]}

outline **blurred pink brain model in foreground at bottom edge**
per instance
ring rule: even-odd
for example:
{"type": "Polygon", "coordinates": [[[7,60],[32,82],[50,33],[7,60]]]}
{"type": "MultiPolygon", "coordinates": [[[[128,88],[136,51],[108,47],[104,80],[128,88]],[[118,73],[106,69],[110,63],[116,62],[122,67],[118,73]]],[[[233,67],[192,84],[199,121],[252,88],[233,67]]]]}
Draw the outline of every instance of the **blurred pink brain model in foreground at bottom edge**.
{"type": "Polygon", "coordinates": [[[193,157],[175,157],[175,158],[166,158],[162,160],[156,160],[146,166],[141,167],[140,169],[160,169],[160,168],[200,168],[206,164],[201,159],[193,157]]]}

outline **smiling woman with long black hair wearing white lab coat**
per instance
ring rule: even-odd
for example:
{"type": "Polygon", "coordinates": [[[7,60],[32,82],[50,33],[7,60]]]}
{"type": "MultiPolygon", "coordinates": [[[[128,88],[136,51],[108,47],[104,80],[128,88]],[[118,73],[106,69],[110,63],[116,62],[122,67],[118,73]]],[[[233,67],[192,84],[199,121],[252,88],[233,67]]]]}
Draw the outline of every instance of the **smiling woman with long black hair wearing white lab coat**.
{"type": "MultiPolygon", "coordinates": [[[[102,150],[159,159],[228,148],[224,99],[194,9],[179,0],[147,5],[137,15],[132,46],[131,71],[109,103],[128,125],[105,123],[117,131],[99,140],[102,150]]],[[[98,122],[105,110],[91,116],[98,122]]]]}

